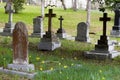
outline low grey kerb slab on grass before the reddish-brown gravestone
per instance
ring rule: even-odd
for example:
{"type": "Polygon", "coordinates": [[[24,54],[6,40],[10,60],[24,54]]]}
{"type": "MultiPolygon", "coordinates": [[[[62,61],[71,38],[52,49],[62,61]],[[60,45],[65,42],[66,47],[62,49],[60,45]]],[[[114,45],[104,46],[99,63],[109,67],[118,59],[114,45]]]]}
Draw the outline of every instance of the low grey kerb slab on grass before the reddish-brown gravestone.
{"type": "Polygon", "coordinates": [[[20,72],[15,70],[3,69],[3,67],[0,67],[0,72],[5,74],[18,75],[20,77],[27,77],[28,79],[34,79],[35,75],[37,75],[37,73],[20,72]]]}

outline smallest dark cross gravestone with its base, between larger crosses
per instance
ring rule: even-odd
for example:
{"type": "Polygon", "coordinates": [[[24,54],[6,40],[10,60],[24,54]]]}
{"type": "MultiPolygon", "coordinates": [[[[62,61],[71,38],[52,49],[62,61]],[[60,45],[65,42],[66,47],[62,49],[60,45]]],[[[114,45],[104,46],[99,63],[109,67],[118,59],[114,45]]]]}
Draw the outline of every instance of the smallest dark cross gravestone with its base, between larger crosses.
{"type": "Polygon", "coordinates": [[[66,32],[65,32],[65,30],[62,28],[62,21],[64,20],[63,18],[62,18],[62,16],[60,16],[60,18],[58,18],[58,20],[60,20],[60,28],[57,30],[57,36],[59,37],[59,38],[66,38],[66,32]]]}

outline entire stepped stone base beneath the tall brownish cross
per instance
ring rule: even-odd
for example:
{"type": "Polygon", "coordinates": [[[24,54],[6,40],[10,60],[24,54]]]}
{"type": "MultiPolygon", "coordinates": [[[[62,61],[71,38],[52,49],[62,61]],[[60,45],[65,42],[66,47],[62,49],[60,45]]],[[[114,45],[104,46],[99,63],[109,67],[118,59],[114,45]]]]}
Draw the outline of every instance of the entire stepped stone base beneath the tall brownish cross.
{"type": "Polygon", "coordinates": [[[59,38],[57,38],[55,33],[47,31],[46,34],[43,35],[43,38],[41,38],[41,42],[38,45],[38,49],[52,51],[56,48],[59,48],[60,46],[61,42],[59,41],[59,38]]]}

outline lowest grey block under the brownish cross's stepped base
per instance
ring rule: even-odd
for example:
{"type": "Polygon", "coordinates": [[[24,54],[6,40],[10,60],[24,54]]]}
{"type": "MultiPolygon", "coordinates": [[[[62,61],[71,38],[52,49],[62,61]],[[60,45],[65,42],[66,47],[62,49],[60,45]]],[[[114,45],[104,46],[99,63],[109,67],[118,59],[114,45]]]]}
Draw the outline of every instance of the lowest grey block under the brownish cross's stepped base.
{"type": "Polygon", "coordinates": [[[60,42],[40,42],[38,45],[39,50],[48,50],[48,51],[53,51],[59,47],[61,47],[60,42]]]}

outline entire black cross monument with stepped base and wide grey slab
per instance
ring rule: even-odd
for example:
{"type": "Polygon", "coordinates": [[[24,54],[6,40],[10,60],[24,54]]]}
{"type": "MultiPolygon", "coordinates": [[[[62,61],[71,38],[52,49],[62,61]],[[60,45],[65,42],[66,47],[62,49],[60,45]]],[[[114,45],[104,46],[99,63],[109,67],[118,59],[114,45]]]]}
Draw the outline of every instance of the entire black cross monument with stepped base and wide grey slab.
{"type": "Polygon", "coordinates": [[[107,17],[107,13],[103,14],[103,17],[100,18],[100,21],[103,21],[103,35],[100,36],[98,44],[95,45],[95,50],[85,52],[84,56],[93,59],[112,59],[120,55],[120,52],[115,51],[114,44],[108,41],[108,37],[106,35],[106,27],[107,21],[110,21],[110,18],[107,17]]]}

